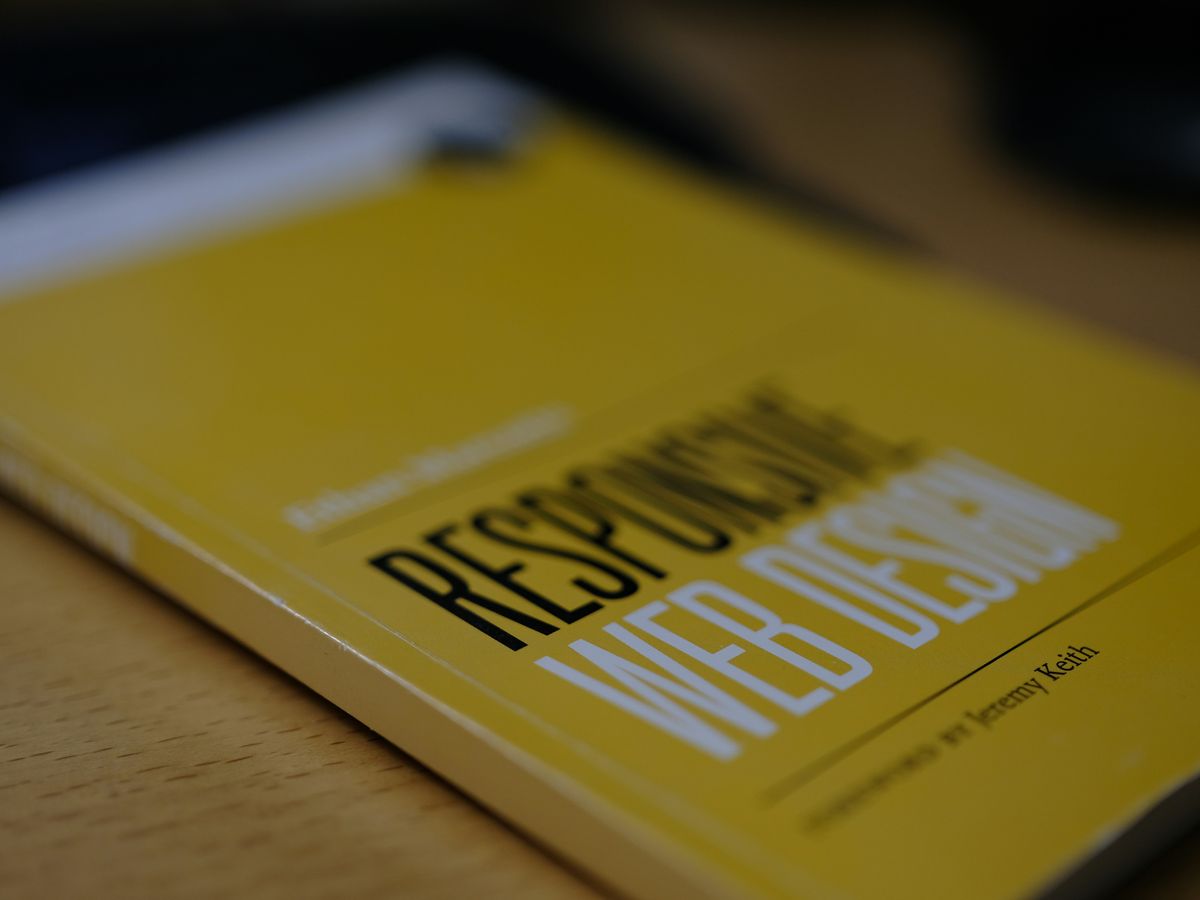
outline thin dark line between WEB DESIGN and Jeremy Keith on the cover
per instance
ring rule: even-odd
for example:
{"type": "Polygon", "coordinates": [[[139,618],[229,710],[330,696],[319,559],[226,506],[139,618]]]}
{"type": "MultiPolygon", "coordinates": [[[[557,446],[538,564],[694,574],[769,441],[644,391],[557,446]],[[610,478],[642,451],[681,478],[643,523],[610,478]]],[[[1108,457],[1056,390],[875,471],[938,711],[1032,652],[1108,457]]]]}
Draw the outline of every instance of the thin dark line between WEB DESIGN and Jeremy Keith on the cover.
{"type": "Polygon", "coordinates": [[[1129,587],[1134,582],[1140,581],[1141,578],[1145,578],[1151,572],[1154,572],[1156,570],[1162,569],[1168,563],[1171,563],[1175,559],[1182,557],[1184,553],[1187,553],[1188,551],[1193,550],[1198,544],[1200,544],[1200,528],[1198,528],[1198,529],[1188,533],[1187,535],[1184,535],[1183,538],[1181,538],[1176,542],[1171,544],[1166,550],[1164,550],[1159,554],[1157,554],[1157,556],[1152,557],[1151,559],[1146,560],[1145,563],[1142,563],[1141,565],[1139,565],[1136,569],[1134,569],[1129,574],[1122,576],[1117,581],[1112,582],[1111,584],[1109,584],[1106,588],[1104,588],[1099,593],[1093,594],[1092,596],[1087,598],[1086,600],[1084,600],[1084,602],[1079,604],[1079,606],[1075,606],[1075,607],[1068,610],[1062,616],[1060,616],[1058,618],[1056,618],[1052,622],[1050,622],[1050,623],[1043,625],[1042,628],[1039,628],[1032,635],[1028,635],[1027,637],[1022,638],[1021,641],[1018,641],[1016,643],[1014,643],[1012,647],[1009,647],[1003,653],[1000,653],[1000,654],[992,656],[990,660],[988,660],[983,665],[977,666],[976,668],[972,668],[970,672],[967,672],[966,674],[964,674],[964,676],[961,676],[959,678],[955,678],[953,682],[950,682],[946,686],[940,688],[938,690],[936,690],[932,694],[930,694],[928,697],[917,701],[911,707],[908,707],[908,708],[906,708],[906,709],[896,713],[895,715],[893,715],[890,719],[887,719],[887,720],[880,722],[874,728],[870,728],[869,731],[863,732],[858,737],[852,738],[851,740],[847,740],[845,744],[842,744],[838,749],[832,750],[830,752],[826,754],[824,756],[822,756],[821,758],[818,758],[815,762],[810,763],[809,766],[805,766],[804,768],[798,769],[797,772],[793,772],[790,775],[786,775],[785,778],[780,779],[774,785],[772,785],[766,791],[763,791],[762,797],[763,797],[763,800],[764,800],[766,805],[774,806],[780,800],[785,799],[788,794],[793,793],[794,791],[798,791],[799,788],[804,787],[809,782],[815,781],[817,778],[820,778],[821,775],[823,775],[826,772],[828,772],[829,769],[832,769],[834,766],[836,766],[838,763],[840,763],[842,760],[850,757],[851,755],[853,755],[854,752],[857,752],[862,748],[864,748],[868,744],[870,744],[876,738],[882,737],[883,734],[886,734],[888,731],[890,731],[892,728],[894,728],[896,725],[899,725],[900,722],[902,722],[905,719],[910,718],[911,715],[913,715],[914,713],[919,712],[920,709],[924,709],[926,706],[929,706],[930,703],[932,703],[935,700],[937,700],[938,697],[941,697],[947,691],[950,691],[954,688],[959,686],[960,684],[962,684],[968,678],[972,678],[972,677],[979,674],[979,672],[983,672],[985,668],[988,668],[988,666],[990,666],[994,662],[998,662],[1000,660],[1004,659],[1004,656],[1007,656],[1008,654],[1013,653],[1014,650],[1024,647],[1025,644],[1027,644],[1033,638],[1039,637],[1040,635],[1044,635],[1050,629],[1052,629],[1052,628],[1055,628],[1057,625],[1061,625],[1063,622],[1067,622],[1068,619],[1073,618],[1074,616],[1078,616],[1079,613],[1084,612],[1085,610],[1087,610],[1087,608],[1094,606],[1096,604],[1100,602],[1100,600],[1104,600],[1105,598],[1109,598],[1109,596],[1112,596],[1116,593],[1120,593],[1121,590],[1123,590],[1124,588],[1129,587]]]}

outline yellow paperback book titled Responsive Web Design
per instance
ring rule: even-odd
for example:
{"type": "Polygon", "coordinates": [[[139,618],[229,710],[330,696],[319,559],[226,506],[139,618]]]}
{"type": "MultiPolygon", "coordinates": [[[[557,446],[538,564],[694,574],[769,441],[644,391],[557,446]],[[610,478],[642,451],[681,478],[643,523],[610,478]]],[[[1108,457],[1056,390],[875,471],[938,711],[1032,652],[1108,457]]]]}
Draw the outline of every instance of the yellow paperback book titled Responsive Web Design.
{"type": "Polygon", "coordinates": [[[0,482],[634,896],[1022,896],[1186,798],[1194,374],[563,112],[426,160],[529,102],[5,200],[0,482]]]}

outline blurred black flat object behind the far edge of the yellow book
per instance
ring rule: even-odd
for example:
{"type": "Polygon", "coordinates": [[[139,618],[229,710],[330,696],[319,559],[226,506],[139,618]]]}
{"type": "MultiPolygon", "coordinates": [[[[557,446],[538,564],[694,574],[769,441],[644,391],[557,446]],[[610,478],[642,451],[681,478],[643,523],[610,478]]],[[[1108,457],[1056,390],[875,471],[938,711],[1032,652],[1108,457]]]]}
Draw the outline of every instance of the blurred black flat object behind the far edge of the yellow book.
{"type": "MultiPolygon", "coordinates": [[[[6,29],[0,191],[253,116],[398,67],[457,56],[536,85],[684,164],[863,234],[821,191],[763,175],[736,136],[658,73],[553,17],[262,14],[6,29]]],[[[581,26],[583,25],[583,26],[581,26]]],[[[599,31],[599,29],[596,30],[599,31]]]]}

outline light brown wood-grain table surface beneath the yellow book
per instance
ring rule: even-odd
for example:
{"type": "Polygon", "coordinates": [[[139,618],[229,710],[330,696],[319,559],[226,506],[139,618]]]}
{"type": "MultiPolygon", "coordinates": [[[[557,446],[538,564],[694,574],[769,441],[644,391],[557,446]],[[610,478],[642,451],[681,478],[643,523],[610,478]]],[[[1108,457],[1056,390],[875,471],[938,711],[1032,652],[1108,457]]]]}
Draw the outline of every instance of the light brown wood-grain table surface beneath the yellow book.
{"type": "MultiPolygon", "coordinates": [[[[707,7],[702,7],[707,8],[707,7]]],[[[769,7],[768,7],[769,8],[769,7]]],[[[928,23],[618,5],[778,172],[944,263],[1200,356],[1200,227],[980,148],[928,23]]],[[[1200,895],[1192,839],[1123,888],[1200,895]]],[[[0,503],[0,896],[583,898],[598,889],[320,697],[0,503]]]]}

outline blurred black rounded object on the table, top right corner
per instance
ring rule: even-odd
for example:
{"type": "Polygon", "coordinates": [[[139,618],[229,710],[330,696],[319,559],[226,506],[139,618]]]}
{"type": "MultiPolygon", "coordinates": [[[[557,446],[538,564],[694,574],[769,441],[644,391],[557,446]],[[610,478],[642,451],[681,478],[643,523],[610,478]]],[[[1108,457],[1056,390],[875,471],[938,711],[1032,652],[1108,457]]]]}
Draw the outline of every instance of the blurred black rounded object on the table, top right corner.
{"type": "Polygon", "coordinates": [[[1200,205],[1200,14],[1192,2],[954,10],[983,49],[991,133],[1094,196],[1200,205]]]}

